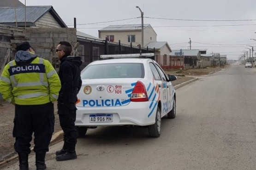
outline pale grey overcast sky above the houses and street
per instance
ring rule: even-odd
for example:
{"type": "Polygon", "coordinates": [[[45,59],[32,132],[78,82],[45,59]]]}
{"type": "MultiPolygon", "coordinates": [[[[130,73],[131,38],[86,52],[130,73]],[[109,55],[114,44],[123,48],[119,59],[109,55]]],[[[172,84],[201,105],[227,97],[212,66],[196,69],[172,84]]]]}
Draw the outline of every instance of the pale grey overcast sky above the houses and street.
{"type": "Polygon", "coordinates": [[[172,50],[189,49],[189,38],[191,49],[229,59],[250,51],[248,45],[256,50],[250,40],[256,39],[256,0],[26,0],[26,6],[53,6],[66,25],[73,27],[76,17],[77,30],[95,37],[108,25],[141,24],[139,6],[144,24],[172,50]]]}

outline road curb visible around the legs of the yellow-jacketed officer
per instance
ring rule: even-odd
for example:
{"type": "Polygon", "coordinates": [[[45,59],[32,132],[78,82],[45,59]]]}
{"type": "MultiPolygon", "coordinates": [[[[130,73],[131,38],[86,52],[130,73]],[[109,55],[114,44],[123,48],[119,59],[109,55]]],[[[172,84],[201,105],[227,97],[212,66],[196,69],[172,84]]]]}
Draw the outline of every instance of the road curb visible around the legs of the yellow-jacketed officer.
{"type": "MultiPolygon", "coordinates": [[[[58,131],[53,134],[50,145],[54,145],[63,140],[63,131],[58,131]]],[[[33,151],[34,147],[31,147],[31,151],[33,151]]],[[[3,161],[0,162],[0,166],[12,162],[13,160],[18,159],[18,154],[16,152],[12,152],[4,156],[3,161]]]]}

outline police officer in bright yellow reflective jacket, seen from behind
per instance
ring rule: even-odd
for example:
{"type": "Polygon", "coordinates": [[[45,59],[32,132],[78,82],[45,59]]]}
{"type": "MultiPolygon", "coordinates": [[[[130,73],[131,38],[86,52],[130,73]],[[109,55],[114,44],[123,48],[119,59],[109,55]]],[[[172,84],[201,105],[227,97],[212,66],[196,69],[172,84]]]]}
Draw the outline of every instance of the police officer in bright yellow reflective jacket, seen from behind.
{"type": "Polygon", "coordinates": [[[54,132],[54,104],[60,78],[51,63],[37,57],[29,42],[17,45],[14,60],[6,64],[0,77],[0,93],[15,104],[13,136],[19,169],[29,170],[28,156],[34,132],[36,170],[45,170],[45,155],[54,132]]]}

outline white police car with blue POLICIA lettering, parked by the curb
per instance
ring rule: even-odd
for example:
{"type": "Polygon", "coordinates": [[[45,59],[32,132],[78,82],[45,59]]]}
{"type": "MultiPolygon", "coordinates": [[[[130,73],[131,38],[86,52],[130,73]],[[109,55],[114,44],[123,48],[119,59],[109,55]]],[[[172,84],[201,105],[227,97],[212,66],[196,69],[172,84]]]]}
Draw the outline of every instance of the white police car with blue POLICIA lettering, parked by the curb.
{"type": "Polygon", "coordinates": [[[171,81],[153,59],[154,53],[101,55],[81,72],[75,125],[83,137],[87,128],[137,125],[149,136],[161,135],[161,118],[176,117],[176,94],[171,81]],[[111,59],[109,59],[111,58],[111,59]]]}

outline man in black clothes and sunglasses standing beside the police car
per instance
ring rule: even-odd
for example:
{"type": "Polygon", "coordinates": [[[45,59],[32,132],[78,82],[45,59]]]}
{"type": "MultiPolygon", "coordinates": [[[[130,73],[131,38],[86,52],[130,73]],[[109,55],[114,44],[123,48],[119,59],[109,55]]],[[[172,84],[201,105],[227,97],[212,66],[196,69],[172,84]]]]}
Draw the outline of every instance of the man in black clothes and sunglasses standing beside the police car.
{"type": "Polygon", "coordinates": [[[61,41],[56,48],[60,59],[61,89],[58,98],[58,114],[60,126],[64,131],[64,145],[56,151],[56,160],[76,159],[77,132],[75,127],[77,93],[81,88],[80,77],[81,57],[70,56],[72,46],[69,42],[61,41]]]}

